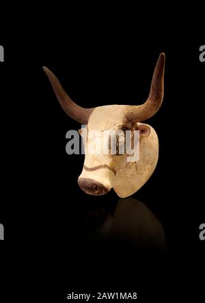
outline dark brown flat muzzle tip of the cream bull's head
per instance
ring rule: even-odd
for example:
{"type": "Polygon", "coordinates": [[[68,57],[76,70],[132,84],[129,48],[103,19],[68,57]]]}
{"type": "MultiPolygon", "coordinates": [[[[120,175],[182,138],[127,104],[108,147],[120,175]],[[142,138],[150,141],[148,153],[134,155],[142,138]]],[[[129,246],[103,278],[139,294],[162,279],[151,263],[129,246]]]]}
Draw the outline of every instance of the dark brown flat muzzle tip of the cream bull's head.
{"type": "Polygon", "coordinates": [[[105,195],[105,193],[109,192],[109,189],[94,180],[79,178],[78,183],[88,195],[105,195]]]}

